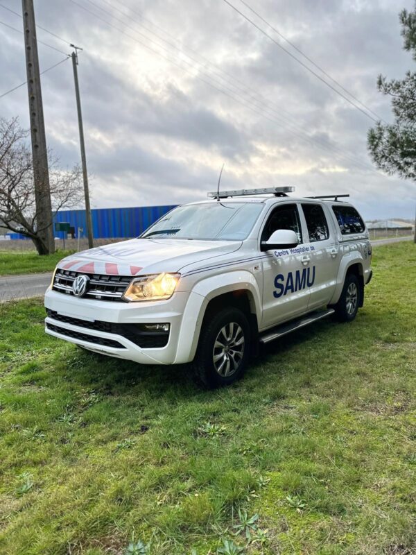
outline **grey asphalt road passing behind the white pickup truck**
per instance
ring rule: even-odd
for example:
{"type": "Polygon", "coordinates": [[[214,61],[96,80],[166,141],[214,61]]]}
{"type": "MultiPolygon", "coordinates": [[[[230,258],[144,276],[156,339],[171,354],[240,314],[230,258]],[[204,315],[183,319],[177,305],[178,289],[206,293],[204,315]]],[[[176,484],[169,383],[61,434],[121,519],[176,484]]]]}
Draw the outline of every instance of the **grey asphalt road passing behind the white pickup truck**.
{"type": "MultiPolygon", "coordinates": [[[[371,241],[372,245],[384,245],[399,241],[411,241],[412,237],[395,237],[371,241]]],[[[6,275],[0,278],[0,302],[7,300],[41,297],[51,283],[51,273],[32,273],[26,275],[6,275]]]]}

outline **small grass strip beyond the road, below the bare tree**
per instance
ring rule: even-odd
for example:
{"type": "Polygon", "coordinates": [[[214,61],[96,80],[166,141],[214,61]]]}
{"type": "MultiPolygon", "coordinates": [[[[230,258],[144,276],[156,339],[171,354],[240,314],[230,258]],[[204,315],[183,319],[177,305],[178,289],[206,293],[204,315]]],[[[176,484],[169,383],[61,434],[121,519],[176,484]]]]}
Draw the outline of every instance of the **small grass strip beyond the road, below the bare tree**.
{"type": "Polygon", "coordinates": [[[39,256],[34,250],[23,253],[0,250],[0,275],[51,272],[62,258],[73,252],[58,250],[53,255],[39,256]]]}

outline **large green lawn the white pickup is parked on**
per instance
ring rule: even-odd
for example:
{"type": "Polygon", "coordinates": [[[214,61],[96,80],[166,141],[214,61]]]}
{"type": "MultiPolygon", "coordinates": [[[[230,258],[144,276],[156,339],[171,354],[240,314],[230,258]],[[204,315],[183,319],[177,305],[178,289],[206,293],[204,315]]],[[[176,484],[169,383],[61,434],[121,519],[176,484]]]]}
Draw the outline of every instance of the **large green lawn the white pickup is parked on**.
{"type": "Polygon", "coordinates": [[[416,247],[373,252],[354,323],[214,392],[0,305],[0,553],[415,554],[416,247]]]}

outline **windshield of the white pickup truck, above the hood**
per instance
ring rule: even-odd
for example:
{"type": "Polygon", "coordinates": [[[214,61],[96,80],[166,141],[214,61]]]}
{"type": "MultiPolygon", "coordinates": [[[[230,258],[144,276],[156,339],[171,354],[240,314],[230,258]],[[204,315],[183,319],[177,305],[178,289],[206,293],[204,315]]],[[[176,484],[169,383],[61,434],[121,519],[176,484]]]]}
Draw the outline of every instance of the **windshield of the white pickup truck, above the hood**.
{"type": "Polygon", "coordinates": [[[261,210],[261,203],[180,206],[150,226],[140,238],[242,241],[252,230],[261,210]]]}

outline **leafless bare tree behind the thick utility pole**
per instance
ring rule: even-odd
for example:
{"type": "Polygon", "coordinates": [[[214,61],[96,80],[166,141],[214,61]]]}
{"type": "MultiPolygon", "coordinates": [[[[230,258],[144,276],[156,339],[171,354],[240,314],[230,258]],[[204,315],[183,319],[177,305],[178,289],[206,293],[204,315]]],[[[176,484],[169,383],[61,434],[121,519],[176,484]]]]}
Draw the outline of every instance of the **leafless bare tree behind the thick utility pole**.
{"type": "MultiPolygon", "coordinates": [[[[33,163],[27,137],[28,131],[19,126],[17,118],[0,118],[0,222],[4,228],[30,237],[37,253],[46,255],[48,246],[37,226],[33,163]]],[[[58,158],[49,152],[49,168],[53,214],[63,207],[80,205],[83,200],[80,167],[59,169],[58,158]]]]}

